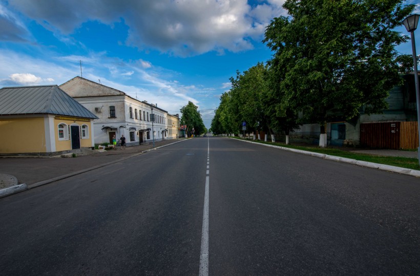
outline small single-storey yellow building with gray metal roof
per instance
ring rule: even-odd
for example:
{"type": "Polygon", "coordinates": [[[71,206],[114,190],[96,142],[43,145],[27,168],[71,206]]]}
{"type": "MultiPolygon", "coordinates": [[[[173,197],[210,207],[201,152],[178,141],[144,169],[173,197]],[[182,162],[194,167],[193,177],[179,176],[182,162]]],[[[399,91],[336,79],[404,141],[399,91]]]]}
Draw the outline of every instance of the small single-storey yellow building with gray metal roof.
{"type": "Polygon", "coordinates": [[[0,154],[55,155],[93,148],[97,117],[57,85],[0,89],[0,154]]]}

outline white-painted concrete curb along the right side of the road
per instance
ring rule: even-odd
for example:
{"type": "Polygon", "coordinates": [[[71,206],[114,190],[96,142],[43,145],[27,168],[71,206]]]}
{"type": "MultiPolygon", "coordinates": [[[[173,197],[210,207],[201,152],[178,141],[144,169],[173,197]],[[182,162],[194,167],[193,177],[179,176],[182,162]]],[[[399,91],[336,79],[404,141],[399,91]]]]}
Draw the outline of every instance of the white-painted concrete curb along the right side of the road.
{"type": "MultiPolygon", "coordinates": [[[[235,139],[235,138],[232,138],[232,139],[235,139]]],[[[350,158],[339,157],[339,156],[328,155],[328,154],[317,153],[317,152],[290,149],[290,148],[286,148],[286,147],[282,147],[282,146],[267,145],[267,144],[263,144],[263,143],[253,142],[253,141],[246,141],[246,140],[240,140],[240,139],[235,139],[235,140],[242,141],[242,142],[247,142],[247,143],[258,144],[258,145],[271,147],[271,148],[287,150],[287,151],[296,152],[296,153],[301,153],[301,154],[310,155],[310,156],[319,157],[319,158],[328,159],[328,160],[333,160],[333,161],[337,161],[337,162],[349,163],[349,164],[353,164],[353,165],[357,165],[357,166],[361,166],[361,167],[373,168],[373,169],[378,169],[378,170],[382,170],[382,171],[395,172],[395,173],[420,177],[420,171],[418,171],[418,170],[412,170],[412,169],[407,169],[407,168],[377,164],[377,163],[360,161],[360,160],[354,160],[354,159],[350,159],[350,158]]]]}

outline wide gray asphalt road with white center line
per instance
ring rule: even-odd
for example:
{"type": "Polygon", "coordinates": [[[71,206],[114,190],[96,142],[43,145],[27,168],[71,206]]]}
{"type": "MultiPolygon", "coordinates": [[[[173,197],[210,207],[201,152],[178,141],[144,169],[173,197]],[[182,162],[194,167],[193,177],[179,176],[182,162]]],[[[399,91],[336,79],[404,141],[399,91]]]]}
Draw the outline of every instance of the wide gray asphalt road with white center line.
{"type": "Polygon", "coordinates": [[[220,137],[2,198],[0,210],[3,275],[420,271],[418,178],[220,137]]]}

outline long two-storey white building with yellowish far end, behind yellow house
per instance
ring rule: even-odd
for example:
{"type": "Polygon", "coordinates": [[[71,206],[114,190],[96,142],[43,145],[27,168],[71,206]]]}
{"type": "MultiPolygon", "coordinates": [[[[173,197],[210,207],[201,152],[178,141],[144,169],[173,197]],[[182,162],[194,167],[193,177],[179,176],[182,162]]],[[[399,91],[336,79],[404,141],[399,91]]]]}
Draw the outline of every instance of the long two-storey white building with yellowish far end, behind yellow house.
{"type": "Polygon", "coordinates": [[[156,105],[133,99],[120,90],[81,77],[61,84],[60,88],[99,118],[93,122],[97,144],[111,143],[113,135],[117,139],[124,135],[127,146],[178,136],[173,125],[167,124],[171,120],[178,126],[178,117],[156,105]],[[152,114],[155,117],[153,124],[152,114]],[[173,134],[168,135],[169,129],[173,134]]]}

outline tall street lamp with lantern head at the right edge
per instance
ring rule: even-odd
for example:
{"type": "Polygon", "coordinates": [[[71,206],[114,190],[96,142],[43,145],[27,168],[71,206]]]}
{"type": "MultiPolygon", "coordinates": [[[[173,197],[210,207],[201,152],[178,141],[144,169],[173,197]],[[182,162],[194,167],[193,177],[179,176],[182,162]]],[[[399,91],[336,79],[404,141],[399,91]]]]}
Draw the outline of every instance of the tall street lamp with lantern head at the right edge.
{"type": "Polygon", "coordinates": [[[414,31],[417,29],[418,18],[420,15],[412,14],[407,16],[403,20],[403,24],[407,29],[407,32],[411,33],[411,46],[413,48],[413,63],[414,63],[414,83],[415,83],[415,96],[417,104],[417,132],[418,132],[418,148],[417,148],[417,159],[418,164],[420,165],[420,92],[418,88],[418,73],[417,73],[417,57],[415,52],[415,40],[414,40],[414,31]]]}

